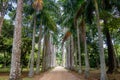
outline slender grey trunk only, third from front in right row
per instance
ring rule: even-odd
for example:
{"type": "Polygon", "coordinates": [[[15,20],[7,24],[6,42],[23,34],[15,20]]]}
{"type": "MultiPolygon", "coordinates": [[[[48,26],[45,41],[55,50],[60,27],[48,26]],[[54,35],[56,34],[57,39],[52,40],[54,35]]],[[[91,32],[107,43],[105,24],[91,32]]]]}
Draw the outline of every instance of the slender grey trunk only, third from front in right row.
{"type": "Polygon", "coordinates": [[[80,48],[80,30],[78,28],[78,21],[77,21],[77,45],[78,45],[78,55],[79,55],[79,73],[82,73],[82,65],[81,65],[81,48],[80,48]]]}

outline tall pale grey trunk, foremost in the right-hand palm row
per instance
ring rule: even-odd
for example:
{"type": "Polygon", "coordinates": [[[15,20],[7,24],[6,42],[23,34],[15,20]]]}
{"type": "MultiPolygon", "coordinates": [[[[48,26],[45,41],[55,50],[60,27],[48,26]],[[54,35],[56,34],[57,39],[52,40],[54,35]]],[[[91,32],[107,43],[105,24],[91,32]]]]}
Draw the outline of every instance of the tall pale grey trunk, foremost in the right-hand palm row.
{"type": "Polygon", "coordinates": [[[95,9],[96,9],[96,19],[97,19],[97,29],[98,29],[98,38],[99,38],[99,53],[100,53],[100,67],[101,67],[101,77],[100,80],[107,80],[106,75],[106,67],[105,67],[105,56],[104,56],[104,49],[103,49],[103,39],[102,39],[102,32],[99,23],[99,11],[98,11],[98,4],[97,1],[94,0],[95,9]]]}

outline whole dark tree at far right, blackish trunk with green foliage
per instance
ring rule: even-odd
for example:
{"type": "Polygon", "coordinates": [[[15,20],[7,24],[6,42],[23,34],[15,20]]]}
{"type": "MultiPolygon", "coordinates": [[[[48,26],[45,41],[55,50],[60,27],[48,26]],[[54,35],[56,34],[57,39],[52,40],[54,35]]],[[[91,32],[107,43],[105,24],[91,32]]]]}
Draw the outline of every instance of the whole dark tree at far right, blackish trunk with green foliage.
{"type": "MultiPolygon", "coordinates": [[[[103,5],[102,8],[102,14],[103,16],[101,17],[104,20],[104,34],[106,36],[106,44],[108,47],[108,70],[107,73],[113,73],[118,71],[117,70],[117,61],[116,61],[116,55],[115,55],[115,51],[114,51],[114,47],[113,47],[113,43],[112,43],[112,38],[111,38],[111,34],[110,34],[110,28],[111,26],[107,26],[108,25],[108,21],[110,19],[113,18],[114,15],[109,14],[112,10],[113,6],[116,6],[117,8],[119,8],[118,3],[120,3],[120,1],[112,1],[112,3],[110,3],[111,0],[108,1],[102,1],[101,4],[103,5]]],[[[113,21],[112,21],[113,22],[113,21]]],[[[112,24],[111,24],[112,25],[112,24]]],[[[117,24],[116,24],[117,25],[117,24]]],[[[116,26],[114,25],[114,27],[116,26]]],[[[114,28],[112,26],[112,28],[114,28]]]]}

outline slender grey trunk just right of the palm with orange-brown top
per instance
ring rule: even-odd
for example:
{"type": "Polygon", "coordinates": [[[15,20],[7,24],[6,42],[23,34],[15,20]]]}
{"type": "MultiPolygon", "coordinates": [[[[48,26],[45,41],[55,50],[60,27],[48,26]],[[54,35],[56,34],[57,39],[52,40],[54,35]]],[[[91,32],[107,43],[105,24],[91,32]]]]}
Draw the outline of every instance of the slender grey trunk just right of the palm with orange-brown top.
{"type": "Polygon", "coordinates": [[[41,38],[42,38],[42,23],[40,25],[39,30],[39,41],[38,41],[38,54],[37,54],[37,62],[36,62],[36,74],[40,72],[40,53],[41,53],[41,38]]]}

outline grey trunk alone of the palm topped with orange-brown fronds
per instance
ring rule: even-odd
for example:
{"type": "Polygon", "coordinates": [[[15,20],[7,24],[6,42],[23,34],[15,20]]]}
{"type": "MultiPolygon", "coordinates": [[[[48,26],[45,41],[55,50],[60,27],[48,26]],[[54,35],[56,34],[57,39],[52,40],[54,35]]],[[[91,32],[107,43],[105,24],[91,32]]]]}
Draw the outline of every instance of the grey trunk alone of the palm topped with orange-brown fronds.
{"type": "Polygon", "coordinates": [[[31,51],[31,55],[30,55],[30,71],[29,71],[29,74],[28,74],[29,77],[32,77],[34,75],[35,30],[36,30],[36,15],[34,15],[32,51],[31,51]]]}

